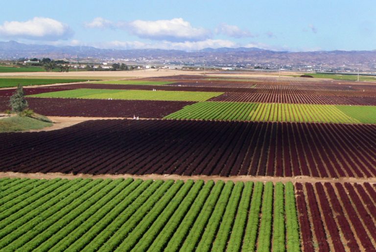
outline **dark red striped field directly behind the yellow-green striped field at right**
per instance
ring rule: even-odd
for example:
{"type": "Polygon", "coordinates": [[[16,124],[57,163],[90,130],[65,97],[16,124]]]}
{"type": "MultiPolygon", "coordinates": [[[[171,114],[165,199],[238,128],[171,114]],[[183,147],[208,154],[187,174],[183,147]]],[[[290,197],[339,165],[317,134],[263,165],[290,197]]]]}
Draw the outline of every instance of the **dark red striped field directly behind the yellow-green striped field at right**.
{"type": "Polygon", "coordinates": [[[299,95],[271,93],[224,93],[210,101],[296,103],[296,104],[339,104],[339,105],[376,105],[376,97],[336,96],[336,95],[299,95]]]}

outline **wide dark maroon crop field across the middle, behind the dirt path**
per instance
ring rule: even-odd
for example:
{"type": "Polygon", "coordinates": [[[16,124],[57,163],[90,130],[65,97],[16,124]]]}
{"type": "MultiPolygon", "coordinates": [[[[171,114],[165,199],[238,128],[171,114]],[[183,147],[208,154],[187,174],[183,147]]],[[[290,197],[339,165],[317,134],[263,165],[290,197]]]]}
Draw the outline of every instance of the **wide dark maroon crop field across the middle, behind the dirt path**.
{"type": "Polygon", "coordinates": [[[0,171],[374,177],[375,132],[368,124],[93,120],[0,134],[0,171]]]}

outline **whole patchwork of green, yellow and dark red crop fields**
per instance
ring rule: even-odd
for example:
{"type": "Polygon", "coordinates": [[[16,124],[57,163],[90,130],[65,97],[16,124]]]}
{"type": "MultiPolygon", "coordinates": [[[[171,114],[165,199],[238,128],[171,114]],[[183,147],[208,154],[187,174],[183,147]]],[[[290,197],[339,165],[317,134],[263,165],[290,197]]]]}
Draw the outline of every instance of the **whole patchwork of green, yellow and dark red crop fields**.
{"type": "Polygon", "coordinates": [[[0,251],[375,251],[375,84],[157,73],[24,89],[140,118],[0,133],[0,251]]]}

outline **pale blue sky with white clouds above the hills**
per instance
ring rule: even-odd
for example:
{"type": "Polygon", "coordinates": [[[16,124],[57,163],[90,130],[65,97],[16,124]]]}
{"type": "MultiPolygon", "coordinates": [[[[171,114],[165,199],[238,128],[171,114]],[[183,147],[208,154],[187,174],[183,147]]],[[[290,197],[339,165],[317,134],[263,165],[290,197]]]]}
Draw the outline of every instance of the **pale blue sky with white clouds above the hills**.
{"type": "Polygon", "coordinates": [[[374,50],[373,0],[18,0],[0,40],[101,48],[374,50]]]}

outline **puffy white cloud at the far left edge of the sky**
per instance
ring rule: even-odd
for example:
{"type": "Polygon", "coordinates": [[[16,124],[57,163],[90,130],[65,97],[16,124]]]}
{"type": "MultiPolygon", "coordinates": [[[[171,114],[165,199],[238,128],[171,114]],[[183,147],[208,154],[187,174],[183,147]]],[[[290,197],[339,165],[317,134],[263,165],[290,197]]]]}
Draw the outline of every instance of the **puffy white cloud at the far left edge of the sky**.
{"type": "Polygon", "coordinates": [[[0,25],[0,37],[30,40],[55,41],[68,39],[73,35],[71,28],[57,20],[34,17],[25,22],[5,21],[0,25]]]}

